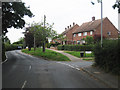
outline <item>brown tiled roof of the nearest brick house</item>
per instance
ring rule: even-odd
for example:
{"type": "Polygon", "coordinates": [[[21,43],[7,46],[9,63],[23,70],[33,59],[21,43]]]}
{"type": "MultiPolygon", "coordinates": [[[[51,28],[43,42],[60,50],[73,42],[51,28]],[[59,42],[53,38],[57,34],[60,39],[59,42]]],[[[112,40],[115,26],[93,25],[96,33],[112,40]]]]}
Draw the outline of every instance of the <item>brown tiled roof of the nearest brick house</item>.
{"type": "MultiPolygon", "coordinates": [[[[105,18],[103,18],[103,20],[104,19],[105,18]]],[[[80,27],[78,27],[73,33],[87,32],[87,31],[95,30],[100,24],[101,24],[101,19],[86,22],[86,23],[83,23],[80,27]]]]}

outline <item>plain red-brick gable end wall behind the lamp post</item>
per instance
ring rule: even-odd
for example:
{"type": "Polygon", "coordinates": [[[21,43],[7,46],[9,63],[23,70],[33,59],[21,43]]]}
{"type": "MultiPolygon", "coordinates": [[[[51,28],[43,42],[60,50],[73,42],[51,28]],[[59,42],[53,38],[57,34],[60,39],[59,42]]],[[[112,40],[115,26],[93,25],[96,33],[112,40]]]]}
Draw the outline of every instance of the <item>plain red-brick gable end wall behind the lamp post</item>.
{"type": "MultiPolygon", "coordinates": [[[[105,38],[118,38],[118,30],[116,27],[110,22],[108,18],[105,18],[103,21],[103,36],[105,38]],[[111,32],[111,35],[108,35],[108,32],[111,32]]],[[[101,24],[96,28],[94,34],[101,34],[101,24]]]]}

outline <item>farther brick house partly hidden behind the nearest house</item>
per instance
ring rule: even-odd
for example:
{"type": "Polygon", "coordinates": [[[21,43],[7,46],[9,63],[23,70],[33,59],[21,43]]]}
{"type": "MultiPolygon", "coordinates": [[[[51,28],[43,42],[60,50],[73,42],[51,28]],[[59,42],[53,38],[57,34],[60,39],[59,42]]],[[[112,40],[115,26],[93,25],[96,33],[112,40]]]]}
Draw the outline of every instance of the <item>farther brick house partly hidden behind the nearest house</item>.
{"type": "Polygon", "coordinates": [[[73,26],[67,26],[65,28],[65,31],[62,33],[63,37],[65,37],[64,41],[62,41],[62,44],[72,44],[73,43],[73,32],[79,27],[78,24],[75,24],[73,22],[73,26]]]}

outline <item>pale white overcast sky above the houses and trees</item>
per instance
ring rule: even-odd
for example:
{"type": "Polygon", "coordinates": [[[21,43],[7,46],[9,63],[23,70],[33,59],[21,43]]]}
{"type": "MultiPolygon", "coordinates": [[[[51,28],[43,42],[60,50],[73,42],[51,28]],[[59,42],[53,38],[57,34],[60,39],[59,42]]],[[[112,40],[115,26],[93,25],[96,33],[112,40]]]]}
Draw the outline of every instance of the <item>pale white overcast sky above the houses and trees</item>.
{"type": "MultiPolygon", "coordinates": [[[[62,33],[67,26],[73,25],[75,22],[81,25],[84,22],[101,18],[101,4],[97,0],[22,0],[26,6],[30,6],[31,12],[35,15],[33,18],[24,17],[26,23],[33,21],[43,22],[46,15],[46,22],[54,23],[53,29],[58,34],[62,33]],[[91,1],[95,5],[91,4],[91,1]]],[[[118,28],[118,12],[112,6],[116,0],[103,0],[103,18],[108,17],[110,21],[118,28]]],[[[27,25],[25,25],[27,27],[27,25]]],[[[24,37],[22,32],[25,29],[8,29],[8,38],[11,43],[18,41],[20,37],[24,37]]]]}

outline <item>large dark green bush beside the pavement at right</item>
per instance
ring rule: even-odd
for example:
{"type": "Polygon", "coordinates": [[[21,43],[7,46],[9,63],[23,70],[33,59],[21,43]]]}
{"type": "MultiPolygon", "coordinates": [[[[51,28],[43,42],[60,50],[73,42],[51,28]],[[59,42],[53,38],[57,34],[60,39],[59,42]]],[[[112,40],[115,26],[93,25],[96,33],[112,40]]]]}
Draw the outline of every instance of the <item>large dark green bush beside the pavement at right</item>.
{"type": "Polygon", "coordinates": [[[120,74],[120,40],[105,40],[103,47],[97,43],[94,47],[95,65],[106,72],[120,74]]]}

